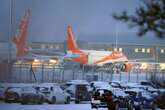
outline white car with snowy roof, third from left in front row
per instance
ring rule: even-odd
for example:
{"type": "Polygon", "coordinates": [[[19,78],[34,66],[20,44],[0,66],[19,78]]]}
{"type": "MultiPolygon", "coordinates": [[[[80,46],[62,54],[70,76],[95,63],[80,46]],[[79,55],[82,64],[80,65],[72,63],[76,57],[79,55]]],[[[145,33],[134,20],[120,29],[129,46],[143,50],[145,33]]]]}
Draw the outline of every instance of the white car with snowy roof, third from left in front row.
{"type": "Polygon", "coordinates": [[[70,103],[70,95],[63,91],[58,84],[43,83],[37,85],[37,88],[41,93],[44,94],[45,102],[50,104],[55,103],[70,103]]]}

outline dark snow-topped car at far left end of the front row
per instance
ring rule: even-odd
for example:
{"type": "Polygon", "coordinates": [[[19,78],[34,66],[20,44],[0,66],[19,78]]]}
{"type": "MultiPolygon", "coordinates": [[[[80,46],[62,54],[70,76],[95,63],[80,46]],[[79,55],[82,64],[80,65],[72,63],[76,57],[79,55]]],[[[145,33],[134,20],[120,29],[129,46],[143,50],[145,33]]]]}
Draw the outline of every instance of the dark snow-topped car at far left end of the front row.
{"type": "Polygon", "coordinates": [[[20,102],[21,101],[21,87],[8,87],[4,93],[5,102],[20,102]]]}

